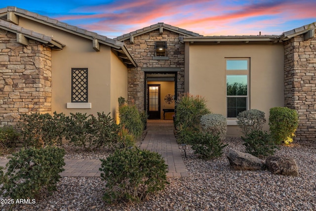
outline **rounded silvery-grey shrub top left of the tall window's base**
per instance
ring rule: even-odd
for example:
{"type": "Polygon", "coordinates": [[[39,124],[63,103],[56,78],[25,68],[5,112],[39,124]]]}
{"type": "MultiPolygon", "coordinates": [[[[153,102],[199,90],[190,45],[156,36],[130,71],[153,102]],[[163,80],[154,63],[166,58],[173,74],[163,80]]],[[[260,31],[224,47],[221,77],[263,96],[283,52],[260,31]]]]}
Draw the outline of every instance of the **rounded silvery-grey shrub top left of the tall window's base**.
{"type": "Polygon", "coordinates": [[[200,119],[202,132],[218,135],[221,140],[225,139],[227,132],[226,117],[221,114],[205,114],[200,119]]]}

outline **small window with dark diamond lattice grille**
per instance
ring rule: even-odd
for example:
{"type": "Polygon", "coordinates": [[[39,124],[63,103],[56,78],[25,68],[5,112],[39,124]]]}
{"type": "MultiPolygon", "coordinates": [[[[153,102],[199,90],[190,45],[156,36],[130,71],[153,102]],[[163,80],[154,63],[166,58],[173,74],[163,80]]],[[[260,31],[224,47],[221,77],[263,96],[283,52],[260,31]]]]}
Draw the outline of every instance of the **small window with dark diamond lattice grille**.
{"type": "Polygon", "coordinates": [[[72,68],[71,80],[71,102],[88,102],[88,68],[72,68]]]}

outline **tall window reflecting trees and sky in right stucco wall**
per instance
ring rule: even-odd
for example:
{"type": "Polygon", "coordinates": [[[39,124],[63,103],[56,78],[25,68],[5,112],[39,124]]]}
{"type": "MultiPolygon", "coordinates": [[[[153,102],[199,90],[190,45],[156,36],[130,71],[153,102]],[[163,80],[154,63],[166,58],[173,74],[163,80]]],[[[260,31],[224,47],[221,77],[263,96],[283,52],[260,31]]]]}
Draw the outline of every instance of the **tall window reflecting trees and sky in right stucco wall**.
{"type": "Polygon", "coordinates": [[[236,118],[249,105],[249,59],[226,59],[227,117],[236,118]]]}

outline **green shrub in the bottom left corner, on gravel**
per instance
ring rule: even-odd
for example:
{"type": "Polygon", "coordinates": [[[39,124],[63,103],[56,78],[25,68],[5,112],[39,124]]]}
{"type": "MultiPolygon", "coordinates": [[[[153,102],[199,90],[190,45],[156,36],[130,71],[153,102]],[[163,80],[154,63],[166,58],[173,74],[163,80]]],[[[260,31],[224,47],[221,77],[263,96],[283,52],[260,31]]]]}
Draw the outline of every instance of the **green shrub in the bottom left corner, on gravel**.
{"type": "Polygon", "coordinates": [[[65,150],[54,146],[22,149],[13,153],[6,165],[6,172],[0,171],[3,184],[1,194],[12,199],[36,198],[42,189],[56,190],[64,169],[65,150]]]}

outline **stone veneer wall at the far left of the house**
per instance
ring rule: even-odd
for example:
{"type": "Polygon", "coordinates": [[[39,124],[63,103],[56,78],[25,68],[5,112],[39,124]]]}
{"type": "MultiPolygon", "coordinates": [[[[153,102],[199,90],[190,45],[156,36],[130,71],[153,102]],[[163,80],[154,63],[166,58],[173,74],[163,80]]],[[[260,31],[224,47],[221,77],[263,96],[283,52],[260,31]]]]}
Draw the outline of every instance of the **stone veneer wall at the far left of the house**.
{"type": "Polygon", "coordinates": [[[19,115],[51,112],[51,48],[0,30],[0,127],[15,125],[19,115]]]}

